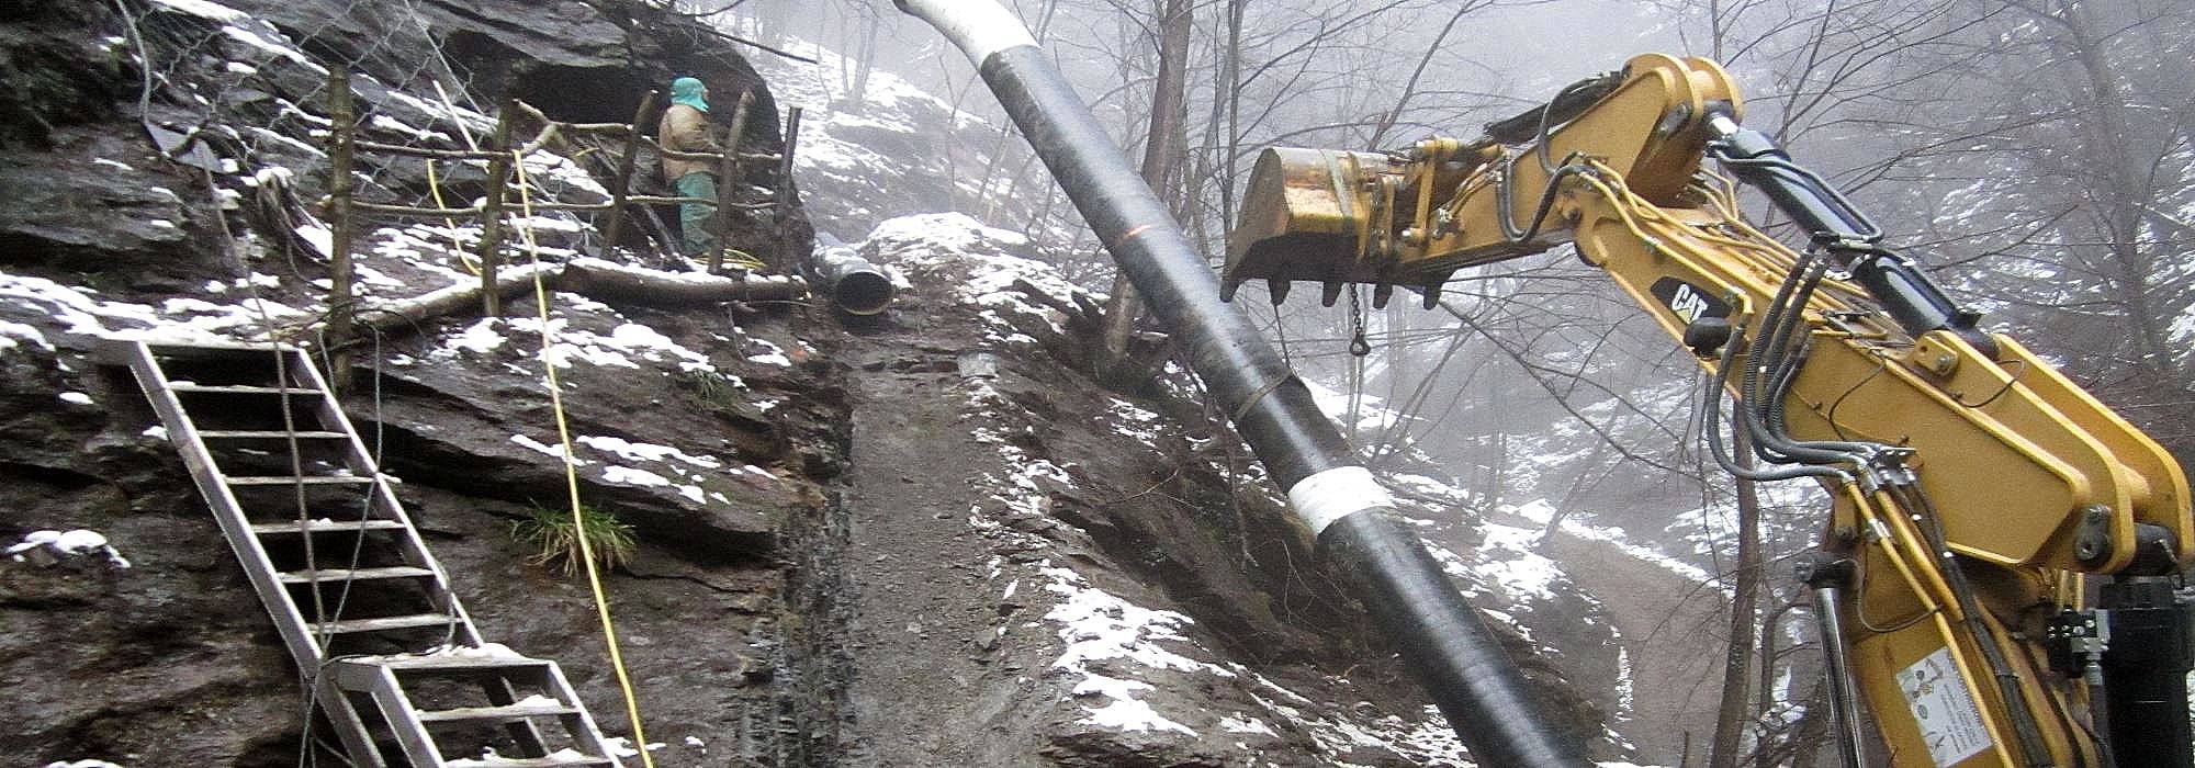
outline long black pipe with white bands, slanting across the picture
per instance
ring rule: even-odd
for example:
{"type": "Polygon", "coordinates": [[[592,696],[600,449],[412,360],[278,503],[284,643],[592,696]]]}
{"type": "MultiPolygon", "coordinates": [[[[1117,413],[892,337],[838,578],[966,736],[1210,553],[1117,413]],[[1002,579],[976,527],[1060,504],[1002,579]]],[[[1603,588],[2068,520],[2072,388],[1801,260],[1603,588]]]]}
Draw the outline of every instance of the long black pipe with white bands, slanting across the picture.
{"type": "Polygon", "coordinates": [[[1238,307],[1220,301],[1218,279],[1166,204],[1113,147],[1021,20],[988,0],[896,2],[946,33],[977,64],[1023,138],[1288,492],[1321,557],[1348,575],[1365,610],[1400,645],[1471,755],[1482,766],[1585,766],[1578,739],[1550,726],[1523,671],[1394,513],[1387,492],[1357,463],[1304,382],[1238,307]]]}

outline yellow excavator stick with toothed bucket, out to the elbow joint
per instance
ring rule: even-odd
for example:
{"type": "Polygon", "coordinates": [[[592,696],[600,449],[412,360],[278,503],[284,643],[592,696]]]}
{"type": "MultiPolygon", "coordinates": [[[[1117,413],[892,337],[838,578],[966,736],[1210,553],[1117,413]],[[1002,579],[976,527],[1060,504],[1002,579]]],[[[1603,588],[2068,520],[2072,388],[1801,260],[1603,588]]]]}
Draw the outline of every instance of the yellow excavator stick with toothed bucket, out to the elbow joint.
{"type": "Polygon", "coordinates": [[[1569,239],[1567,226],[1545,222],[1554,200],[1543,191],[1563,180],[1550,178],[1554,158],[1591,151],[1620,171],[1677,178],[1635,184],[1664,200],[1699,167],[1706,143],[1675,127],[1738,112],[1730,75],[1712,61],[1640,55],[1488,123],[1473,140],[1433,136],[1387,154],[1264,149],[1229,237],[1223,296],[1262,279],[1277,305],[1291,283],[1310,281],[1332,305],[1346,283],[1370,283],[1381,305],[1400,285],[1422,292],[1431,309],[1455,270],[1569,239]]]}

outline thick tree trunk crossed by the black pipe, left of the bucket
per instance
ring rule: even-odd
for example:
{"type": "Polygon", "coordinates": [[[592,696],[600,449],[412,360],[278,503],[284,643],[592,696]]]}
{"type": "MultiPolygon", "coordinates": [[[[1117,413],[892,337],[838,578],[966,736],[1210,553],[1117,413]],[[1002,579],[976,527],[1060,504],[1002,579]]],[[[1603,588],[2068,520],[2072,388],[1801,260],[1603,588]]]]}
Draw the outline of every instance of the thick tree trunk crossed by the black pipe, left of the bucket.
{"type": "MultiPolygon", "coordinates": [[[[1150,134],[1144,138],[1144,184],[1159,193],[1161,200],[1179,202],[1181,195],[1172,193],[1172,178],[1181,165],[1181,132],[1185,123],[1185,86],[1190,59],[1190,0],[1166,0],[1166,9],[1159,18],[1159,79],[1150,97],[1150,134]]],[[[1179,208],[1179,206],[1177,206],[1179,208]]],[[[1113,298],[1106,303],[1104,318],[1104,351],[1100,353],[1098,373],[1100,380],[1108,384],[1128,384],[1115,380],[1115,375],[1126,380],[1141,377],[1141,366],[1133,364],[1128,342],[1135,338],[1135,318],[1144,312],[1141,301],[1135,296],[1135,285],[1128,285],[1126,274],[1113,276],[1113,298]]]]}

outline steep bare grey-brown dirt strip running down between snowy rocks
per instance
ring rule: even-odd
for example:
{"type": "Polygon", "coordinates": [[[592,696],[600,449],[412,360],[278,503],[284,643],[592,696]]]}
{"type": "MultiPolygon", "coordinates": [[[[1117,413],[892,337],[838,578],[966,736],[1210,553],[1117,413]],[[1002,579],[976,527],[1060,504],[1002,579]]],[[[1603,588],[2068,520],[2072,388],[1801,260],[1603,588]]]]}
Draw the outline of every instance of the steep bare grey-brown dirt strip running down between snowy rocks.
{"type": "Polygon", "coordinates": [[[856,592],[847,764],[999,766],[1034,750],[1003,733],[1023,665],[983,639],[999,619],[992,549],[968,527],[988,454],[946,349],[871,342],[852,375],[845,577],[856,592]]]}

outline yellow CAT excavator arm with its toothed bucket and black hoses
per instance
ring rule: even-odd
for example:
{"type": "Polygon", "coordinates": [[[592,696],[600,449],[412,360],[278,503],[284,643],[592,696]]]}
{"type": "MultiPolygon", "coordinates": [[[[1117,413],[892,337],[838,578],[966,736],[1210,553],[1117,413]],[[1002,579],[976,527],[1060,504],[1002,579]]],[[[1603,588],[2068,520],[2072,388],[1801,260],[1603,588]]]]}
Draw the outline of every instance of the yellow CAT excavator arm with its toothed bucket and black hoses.
{"type": "MultiPolygon", "coordinates": [[[[1732,430],[1767,465],[1716,443],[1727,470],[1835,498],[1809,584],[1831,601],[1831,665],[1848,667],[1833,682],[1864,693],[1892,764],[2186,766],[2180,465],[1978,329],[1741,118],[1712,61],[1642,55],[1475,140],[1267,149],[1220,283],[1262,279],[1280,303],[1310,281],[1328,305],[1346,283],[1374,285],[1376,305],[1403,285],[1431,307],[1455,270],[1572,241],[1734,397],[1732,430]],[[1747,224],[1732,176],[1804,248],[1747,224]]],[[[1719,441],[1723,406],[1706,406],[1719,441]]]]}

